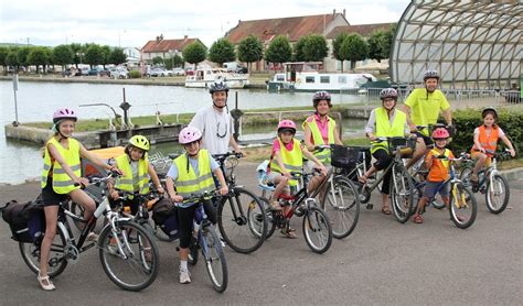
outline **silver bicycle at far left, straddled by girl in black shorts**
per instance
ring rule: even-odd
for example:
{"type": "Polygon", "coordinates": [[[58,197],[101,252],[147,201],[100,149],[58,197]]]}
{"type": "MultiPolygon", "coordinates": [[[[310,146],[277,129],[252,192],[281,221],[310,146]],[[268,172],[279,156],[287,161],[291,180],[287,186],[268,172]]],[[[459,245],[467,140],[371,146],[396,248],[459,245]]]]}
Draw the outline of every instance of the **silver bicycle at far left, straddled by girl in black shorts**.
{"type": "MultiPolygon", "coordinates": [[[[49,276],[56,277],[65,270],[67,263],[76,263],[79,254],[97,245],[102,266],[109,280],[127,291],[141,291],[150,286],[159,267],[159,252],[153,238],[148,230],[111,210],[107,199],[107,181],[116,177],[117,173],[109,173],[103,178],[93,178],[93,185],[103,190],[102,200],[95,198],[98,205],[94,216],[84,220],[67,209],[67,203],[61,203],[57,220],[57,232],[51,245],[49,259],[49,276]],[[67,217],[75,222],[83,223],[82,232],[76,241],[67,217]],[[100,216],[107,222],[102,229],[98,242],[84,245],[88,233],[95,228],[100,216]],[[125,263],[128,266],[121,267],[125,263]],[[132,274],[132,275],[128,275],[132,274]]],[[[34,273],[40,272],[40,247],[43,236],[33,243],[19,242],[20,252],[25,264],[34,273]]]]}

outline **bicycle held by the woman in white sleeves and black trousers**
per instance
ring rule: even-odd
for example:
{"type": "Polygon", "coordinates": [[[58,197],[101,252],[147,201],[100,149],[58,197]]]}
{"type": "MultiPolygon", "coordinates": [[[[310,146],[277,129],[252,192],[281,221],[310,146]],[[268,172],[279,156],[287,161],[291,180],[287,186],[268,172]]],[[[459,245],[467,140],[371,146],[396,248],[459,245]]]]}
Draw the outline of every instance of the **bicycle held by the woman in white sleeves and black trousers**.
{"type": "MultiPolygon", "coordinates": [[[[383,175],[376,175],[376,178],[372,182],[367,181],[360,188],[360,203],[366,204],[371,199],[372,192],[378,186],[378,184],[385,177],[385,173],[392,172],[389,197],[392,199],[393,212],[396,220],[401,223],[405,223],[413,210],[414,204],[414,183],[410,174],[407,172],[403,160],[402,151],[412,151],[415,147],[413,139],[406,138],[377,138],[371,143],[387,142],[387,147],[391,150],[391,155],[394,156],[391,164],[383,170],[383,175]]],[[[367,207],[369,208],[369,207],[367,207]]]]}

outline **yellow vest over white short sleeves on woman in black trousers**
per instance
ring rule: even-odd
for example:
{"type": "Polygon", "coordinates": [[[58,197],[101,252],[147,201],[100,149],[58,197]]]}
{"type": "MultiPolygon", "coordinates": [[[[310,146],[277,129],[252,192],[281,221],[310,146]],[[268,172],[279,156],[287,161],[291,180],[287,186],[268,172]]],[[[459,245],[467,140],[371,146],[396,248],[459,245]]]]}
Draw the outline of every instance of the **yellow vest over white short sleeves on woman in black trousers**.
{"type": "MultiPolygon", "coordinates": [[[[387,110],[383,107],[375,109],[374,113],[376,114],[376,136],[382,138],[393,138],[393,136],[405,136],[405,124],[407,122],[407,116],[401,110],[395,110],[394,121],[391,125],[388,120],[387,110]]],[[[386,142],[374,143],[371,147],[371,153],[376,152],[378,149],[388,150],[386,142]]]]}

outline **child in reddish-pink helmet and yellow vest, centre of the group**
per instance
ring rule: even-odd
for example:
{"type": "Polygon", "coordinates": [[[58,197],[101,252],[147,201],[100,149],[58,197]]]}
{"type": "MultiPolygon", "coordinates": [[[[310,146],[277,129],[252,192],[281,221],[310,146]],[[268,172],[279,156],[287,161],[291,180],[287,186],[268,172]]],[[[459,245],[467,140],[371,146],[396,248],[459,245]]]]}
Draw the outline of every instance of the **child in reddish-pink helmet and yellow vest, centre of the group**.
{"type": "MultiPolygon", "coordinates": [[[[281,193],[289,194],[288,186],[296,186],[298,184],[298,182],[291,179],[291,172],[301,172],[303,165],[302,155],[314,162],[317,167],[321,171],[321,176],[314,176],[310,185],[318,186],[318,182],[327,177],[327,170],[323,164],[295,139],[295,134],[296,124],[292,120],[281,120],[279,122],[278,136],[273,142],[273,154],[267,171],[267,182],[276,186],[269,199],[270,208],[274,210],[281,210],[278,196],[281,193]]],[[[284,214],[287,214],[289,209],[290,207],[286,207],[284,214]]],[[[287,238],[296,238],[295,230],[290,228],[282,229],[281,233],[287,238]]]]}

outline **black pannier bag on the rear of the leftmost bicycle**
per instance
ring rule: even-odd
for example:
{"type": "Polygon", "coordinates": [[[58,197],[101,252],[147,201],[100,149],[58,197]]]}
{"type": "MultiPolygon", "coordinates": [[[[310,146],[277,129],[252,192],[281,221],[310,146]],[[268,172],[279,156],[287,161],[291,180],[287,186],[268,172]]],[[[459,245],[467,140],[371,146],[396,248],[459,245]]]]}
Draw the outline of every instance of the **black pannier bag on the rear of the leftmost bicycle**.
{"type": "Polygon", "coordinates": [[[9,201],[2,208],[2,218],[11,229],[14,241],[33,243],[45,233],[45,212],[42,201],[9,201]]]}

